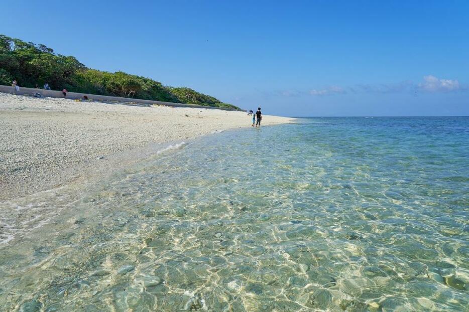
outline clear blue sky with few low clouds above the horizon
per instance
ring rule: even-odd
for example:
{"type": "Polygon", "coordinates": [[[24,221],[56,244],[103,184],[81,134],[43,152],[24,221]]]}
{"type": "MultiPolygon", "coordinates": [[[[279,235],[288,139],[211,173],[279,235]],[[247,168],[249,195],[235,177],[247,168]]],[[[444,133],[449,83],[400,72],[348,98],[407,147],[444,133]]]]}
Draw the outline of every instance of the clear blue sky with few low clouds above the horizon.
{"type": "Polygon", "coordinates": [[[469,115],[467,1],[31,1],[0,33],[287,116],[469,115]]]}

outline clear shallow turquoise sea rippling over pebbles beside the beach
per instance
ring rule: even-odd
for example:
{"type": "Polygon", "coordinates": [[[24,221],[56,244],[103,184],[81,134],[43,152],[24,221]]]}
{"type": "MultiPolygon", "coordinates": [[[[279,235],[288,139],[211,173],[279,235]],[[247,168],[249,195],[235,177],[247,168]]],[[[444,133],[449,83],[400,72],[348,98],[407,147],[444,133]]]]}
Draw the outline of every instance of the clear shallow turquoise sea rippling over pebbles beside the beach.
{"type": "Polygon", "coordinates": [[[469,118],[302,122],[0,203],[0,306],[469,310],[469,118]]]}

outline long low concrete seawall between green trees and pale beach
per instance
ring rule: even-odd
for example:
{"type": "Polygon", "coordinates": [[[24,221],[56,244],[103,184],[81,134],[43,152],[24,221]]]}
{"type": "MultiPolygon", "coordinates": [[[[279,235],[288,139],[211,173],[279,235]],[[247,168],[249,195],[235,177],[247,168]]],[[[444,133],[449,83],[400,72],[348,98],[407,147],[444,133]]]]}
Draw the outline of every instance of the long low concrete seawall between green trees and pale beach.
{"type": "MultiPolygon", "coordinates": [[[[23,87],[20,87],[20,90],[16,91],[14,87],[4,86],[4,85],[0,85],[0,92],[16,94],[16,95],[34,95],[35,93],[39,93],[41,94],[42,97],[57,97],[57,98],[64,97],[62,94],[62,91],[23,88],[23,87]]],[[[165,106],[174,106],[174,107],[194,107],[194,108],[211,108],[211,109],[222,109],[222,110],[238,110],[238,109],[233,109],[233,108],[213,107],[213,106],[204,106],[204,105],[196,105],[196,104],[172,103],[172,102],[134,99],[134,98],[128,98],[128,97],[119,97],[119,96],[107,96],[107,95],[98,95],[98,94],[67,92],[68,99],[83,99],[83,96],[85,95],[88,97],[88,99],[93,100],[93,101],[112,101],[112,102],[121,102],[121,103],[137,103],[137,104],[144,104],[144,105],[165,105],[165,106]]]]}

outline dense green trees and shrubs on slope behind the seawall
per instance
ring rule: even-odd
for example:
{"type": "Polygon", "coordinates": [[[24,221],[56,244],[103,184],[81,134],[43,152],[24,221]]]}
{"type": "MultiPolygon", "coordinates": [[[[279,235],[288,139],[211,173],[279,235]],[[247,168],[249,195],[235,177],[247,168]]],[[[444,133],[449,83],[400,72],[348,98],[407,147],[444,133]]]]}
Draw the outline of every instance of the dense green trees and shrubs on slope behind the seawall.
{"type": "Polygon", "coordinates": [[[0,35],[0,84],[10,85],[14,79],[31,88],[47,82],[56,90],[239,109],[189,88],[164,86],[124,72],[90,69],[73,56],[56,54],[45,45],[0,35]]]}

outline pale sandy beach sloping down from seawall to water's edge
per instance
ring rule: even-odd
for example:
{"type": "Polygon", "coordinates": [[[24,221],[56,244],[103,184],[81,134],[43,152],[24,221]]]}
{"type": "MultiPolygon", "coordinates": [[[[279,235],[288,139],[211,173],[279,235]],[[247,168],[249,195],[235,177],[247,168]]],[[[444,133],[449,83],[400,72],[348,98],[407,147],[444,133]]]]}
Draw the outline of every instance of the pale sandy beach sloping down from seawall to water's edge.
{"type": "MultiPolygon", "coordinates": [[[[115,168],[123,152],[251,126],[245,112],[76,102],[0,93],[0,199],[80,179],[93,168],[115,168]]],[[[263,125],[294,118],[263,116],[263,125]]],[[[151,153],[151,149],[146,150],[151,153]]],[[[138,161],[133,155],[132,161],[138,161]]],[[[126,161],[129,161],[127,159],[126,161]]]]}

